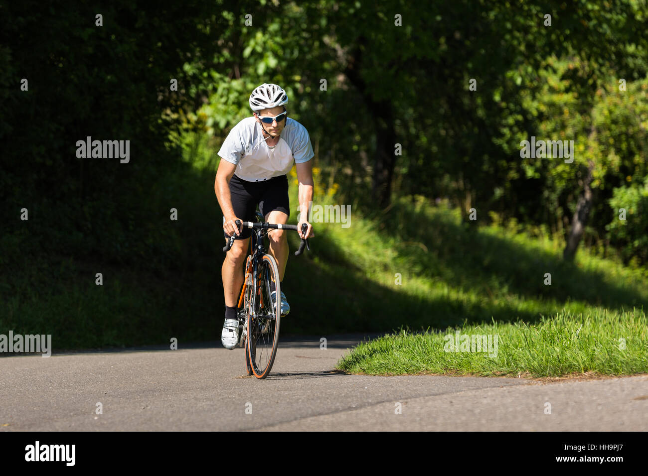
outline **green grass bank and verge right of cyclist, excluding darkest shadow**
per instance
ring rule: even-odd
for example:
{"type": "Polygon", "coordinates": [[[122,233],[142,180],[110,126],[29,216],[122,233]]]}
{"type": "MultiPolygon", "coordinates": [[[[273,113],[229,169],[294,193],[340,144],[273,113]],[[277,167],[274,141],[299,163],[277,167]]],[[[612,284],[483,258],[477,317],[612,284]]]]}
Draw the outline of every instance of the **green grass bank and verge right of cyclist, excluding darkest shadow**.
{"type": "MultiPolygon", "coordinates": [[[[648,370],[645,269],[585,249],[573,264],[564,262],[561,240],[533,237],[515,225],[461,223],[456,211],[423,200],[412,206],[402,199],[395,210],[382,226],[361,221],[353,232],[333,231],[333,241],[349,250],[347,259],[356,256],[384,295],[399,288],[421,306],[406,316],[394,311],[387,318],[400,332],[354,348],[338,363],[341,370],[530,376],[648,370]],[[372,242],[380,252],[363,253],[372,242]],[[396,272],[402,272],[400,286],[396,272]],[[551,285],[544,284],[545,273],[551,285]],[[498,356],[444,352],[445,335],[456,331],[497,334],[498,356]]],[[[388,299],[380,303],[391,308],[388,299]]]]}

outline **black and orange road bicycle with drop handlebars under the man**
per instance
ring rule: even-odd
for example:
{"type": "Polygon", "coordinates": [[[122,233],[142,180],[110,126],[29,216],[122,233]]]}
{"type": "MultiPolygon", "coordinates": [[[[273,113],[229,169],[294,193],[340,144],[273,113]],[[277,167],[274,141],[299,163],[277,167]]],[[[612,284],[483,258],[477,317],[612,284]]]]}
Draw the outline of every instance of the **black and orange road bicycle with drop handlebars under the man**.
{"type": "MultiPolygon", "coordinates": [[[[245,278],[238,298],[238,328],[240,337],[238,346],[246,349],[246,367],[248,375],[263,379],[270,374],[272,364],[277,355],[279,342],[279,324],[281,323],[281,283],[279,268],[272,255],[266,253],[264,238],[273,229],[295,230],[296,225],[268,223],[263,221],[262,214],[257,211],[258,222],[243,221],[243,228],[252,229],[251,254],[248,255],[245,266],[245,278]],[[272,299],[270,282],[275,283],[275,299],[272,299]]],[[[241,225],[241,221],[236,221],[241,225]]],[[[308,229],[306,223],[301,224],[301,232],[308,229]]],[[[227,253],[234,244],[235,236],[227,239],[223,251],[227,253]]],[[[301,238],[299,249],[295,256],[301,255],[306,247],[310,251],[308,238],[301,238]]]]}

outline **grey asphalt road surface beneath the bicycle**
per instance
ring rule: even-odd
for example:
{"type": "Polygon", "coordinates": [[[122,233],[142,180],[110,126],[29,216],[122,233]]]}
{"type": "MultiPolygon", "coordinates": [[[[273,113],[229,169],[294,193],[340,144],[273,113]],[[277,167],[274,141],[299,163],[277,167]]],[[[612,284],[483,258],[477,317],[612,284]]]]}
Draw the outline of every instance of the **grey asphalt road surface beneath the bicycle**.
{"type": "Polygon", "coordinates": [[[242,348],[220,342],[1,357],[0,431],[648,429],[648,376],[544,384],[332,370],[359,340],[331,336],[321,350],[319,337],[284,339],[262,381],[247,376],[242,348]]]}

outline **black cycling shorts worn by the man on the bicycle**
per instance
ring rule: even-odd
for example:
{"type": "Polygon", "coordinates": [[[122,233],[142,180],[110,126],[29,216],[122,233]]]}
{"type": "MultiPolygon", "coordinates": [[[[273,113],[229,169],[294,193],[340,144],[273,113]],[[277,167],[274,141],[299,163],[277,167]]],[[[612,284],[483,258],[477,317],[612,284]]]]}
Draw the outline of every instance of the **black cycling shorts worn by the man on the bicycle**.
{"type": "MultiPolygon", "coordinates": [[[[232,197],[234,214],[243,221],[257,221],[257,204],[263,216],[273,210],[279,210],[290,216],[288,177],[286,176],[248,182],[234,175],[229,181],[229,193],[232,197]]],[[[225,223],[225,217],[223,217],[223,223],[225,223]]],[[[227,238],[225,231],[223,234],[227,238]]],[[[251,234],[251,229],[244,228],[237,240],[249,238],[251,234]]]]}

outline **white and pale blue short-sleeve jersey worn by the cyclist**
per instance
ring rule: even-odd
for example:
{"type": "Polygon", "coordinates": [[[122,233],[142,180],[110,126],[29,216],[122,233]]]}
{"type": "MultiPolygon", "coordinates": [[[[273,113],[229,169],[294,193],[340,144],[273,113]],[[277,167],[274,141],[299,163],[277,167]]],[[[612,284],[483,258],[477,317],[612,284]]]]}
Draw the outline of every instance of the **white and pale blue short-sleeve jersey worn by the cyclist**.
{"type": "Polygon", "coordinates": [[[315,155],[308,131],[294,119],[286,119],[279,142],[269,147],[254,117],[238,122],[229,131],[218,155],[237,166],[240,179],[259,182],[288,174],[294,163],[308,162],[315,155]]]}

